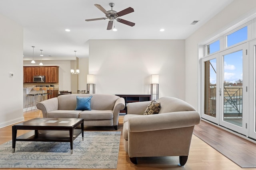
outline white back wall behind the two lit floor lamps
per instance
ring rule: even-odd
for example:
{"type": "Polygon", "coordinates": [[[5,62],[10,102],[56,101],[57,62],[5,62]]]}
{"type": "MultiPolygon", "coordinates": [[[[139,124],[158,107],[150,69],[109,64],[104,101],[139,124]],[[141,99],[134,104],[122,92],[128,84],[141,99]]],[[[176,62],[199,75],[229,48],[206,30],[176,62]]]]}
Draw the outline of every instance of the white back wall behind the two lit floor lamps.
{"type": "Polygon", "coordinates": [[[90,40],[89,74],[96,93],[150,94],[159,74],[159,97],[185,99],[184,40],[90,40]]]}

